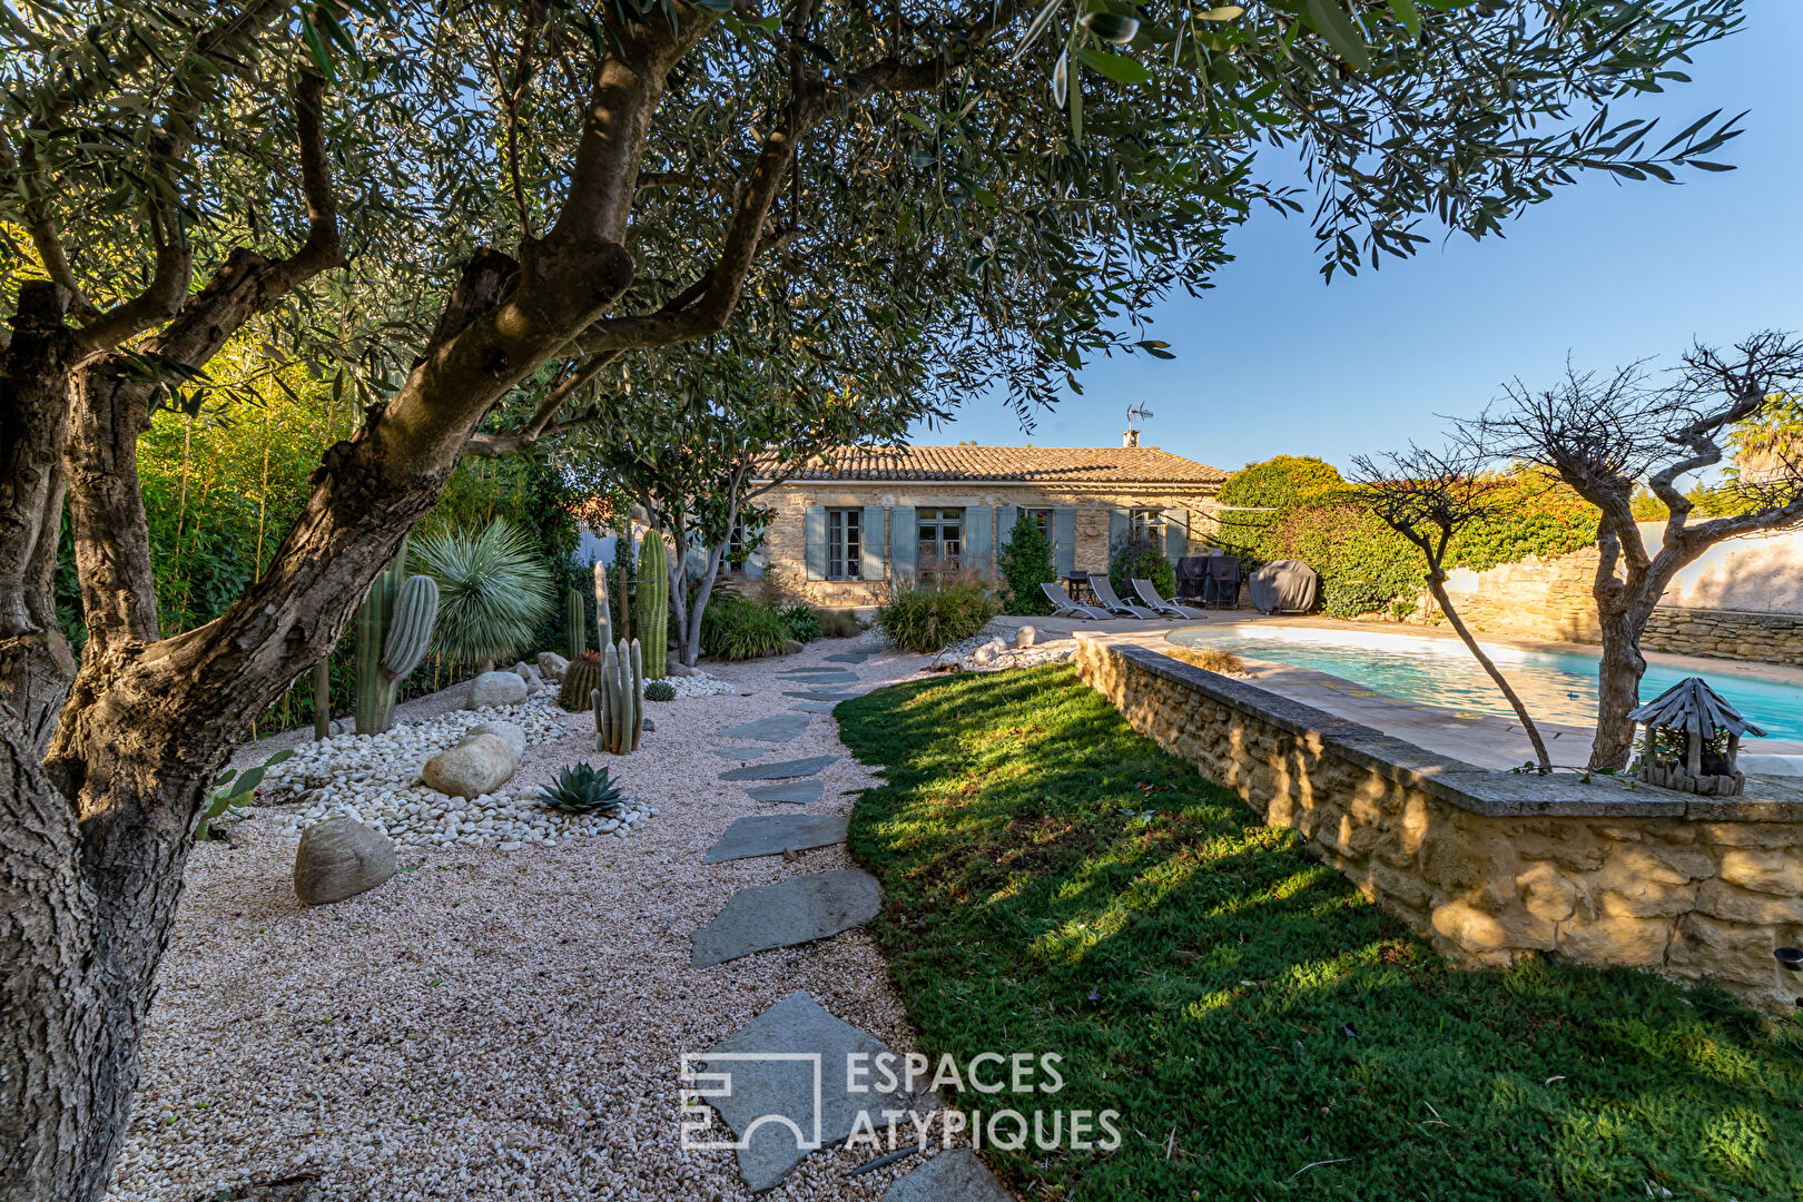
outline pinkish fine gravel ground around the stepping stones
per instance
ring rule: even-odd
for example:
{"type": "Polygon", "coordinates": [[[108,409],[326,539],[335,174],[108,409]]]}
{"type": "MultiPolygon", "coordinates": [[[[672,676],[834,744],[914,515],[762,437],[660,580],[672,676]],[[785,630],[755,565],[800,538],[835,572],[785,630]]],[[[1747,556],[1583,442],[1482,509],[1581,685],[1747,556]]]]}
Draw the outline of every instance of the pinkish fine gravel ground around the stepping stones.
{"type": "MultiPolygon", "coordinates": [[[[682,1052],[792,989],[914,1049],[864,932],[689,968],[689,933],[737,888],[851,867],[842,847],[701,863],[734,818],[775,813],[718,780],[730,762],[705,750],[728,741],[712,732],[786,710],[777,674],[851,645],[710,667],[739,688],[649,706],[656,732],[608,757],[658,811],[629,840],[402,849],[391,881],[316,910],[294,897],[290,811],[256,807],[231,845],[197,849],[110,1197],[195,1202],[314,1171],[332,1202],[748,1198],[730,1152],[678,1146],[682,1052]]],[[[921,665],[880,651],[855,670],[880,683],[921,665]]],[[[564,721],[510,788],[597,759],[590,715],[564,721]]],[[[844,755],[828,714],[772,751],[819,753],[844,755]]],[[[842,815],[873,775],[847,757],[820,779],[808,809],[842,815]]],[[[914,1164],[846,1177],[869,1159],[815,1153],[763,1197],[874,1198],[914,1164]]]]}

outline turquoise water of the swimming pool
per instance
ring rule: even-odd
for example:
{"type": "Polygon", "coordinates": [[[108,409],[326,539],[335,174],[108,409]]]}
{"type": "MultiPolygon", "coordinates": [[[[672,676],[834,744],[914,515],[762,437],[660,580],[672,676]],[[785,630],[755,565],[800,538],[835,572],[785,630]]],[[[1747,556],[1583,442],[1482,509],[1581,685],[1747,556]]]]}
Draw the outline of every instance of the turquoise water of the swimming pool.
{"type": "MultiPolygon", "coordinates": [[[[1471,652],[1453,638],[1237,625],[1174,631],[1170,642],[1329,672],[1403,701],[1515,715],[1471,652]]],[[[1484,643],[1484,652],[1502,669],[1538,721],[1596,724],[1596,656],[1498,643],[1484,643]]],[[[1662,663],[1646,665],[1641,699],[1657,697],[1686,676],[1689,672],[1662,663]]],[[[1706,679],[1742,717],[1765,728],[1769,737],[1803,741],[1803,687],[1734,676],[1725,669],[1707,672],[1706,679]]]]}

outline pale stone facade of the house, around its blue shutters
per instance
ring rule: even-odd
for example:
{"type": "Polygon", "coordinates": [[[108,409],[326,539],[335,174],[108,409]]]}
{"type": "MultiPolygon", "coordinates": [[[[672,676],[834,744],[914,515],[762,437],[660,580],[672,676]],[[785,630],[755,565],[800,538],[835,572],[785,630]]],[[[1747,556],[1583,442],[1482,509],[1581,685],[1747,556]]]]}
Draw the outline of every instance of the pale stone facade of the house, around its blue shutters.
{"type": "MultiPolygon", "coordinates": [[[[1186,533],[1183,535],[1183,553],[1203,553],[1213,546],[1212,535],[1219,528],[1215,519],[1217,485],[1206,487],[1058,487],[1042,485],[965,485],[932,481],[793,481],[783,485],[764,497],[763,505],[775,510],[764,533],[763,555],[754,560],[752,571],[761,573],[784,593],[817,606],[876,606],[889,596],[889,586],[900,575],[889,557],[891,515],[896,506],[914,512],[923,508],[963,508],[966,514],[979,512],[988,523],[988,537],[983,541],[990,548],[984,562],[970,564],[981,575],[993,575],[995,553],[1001,546],[997,539],[1001,528],[1001,510],[1073,510],[1073,546],[1071,566],[1078,571],[1107,571],[1109,566],[1109,530],[1111,521],[1118,523],[1120,512],[1139,506],[1159,506],[1167,514],[1183,515],[1186,533]],[[828,508],[865,508],[883,510],[882,528],[882,575],[860,580],[828,580],[808,571],[806,514],[811,506],[828,508]]],[[[873,526],[874,533],[874,526],[873,526]]],[[[968,542],[968,537],[966,537],[968,542]]]]}

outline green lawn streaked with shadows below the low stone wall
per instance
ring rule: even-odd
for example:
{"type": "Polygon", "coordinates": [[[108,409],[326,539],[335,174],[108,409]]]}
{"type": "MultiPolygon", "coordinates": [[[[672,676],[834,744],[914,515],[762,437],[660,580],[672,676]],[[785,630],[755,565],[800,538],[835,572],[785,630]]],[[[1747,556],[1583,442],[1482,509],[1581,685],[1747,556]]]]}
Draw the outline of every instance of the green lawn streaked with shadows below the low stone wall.
{"type": "Polygon", "coordinates": [[[1794,1024],[1626,970],[1453,970],[1067,665],[837,715],[887,771],[851,851],[923,1051],[1058,1052],[1042,1101],[1121,1114],[1112,1153],[986,1150],[1022,1197],[1803,1197],[1794,1024]]]}

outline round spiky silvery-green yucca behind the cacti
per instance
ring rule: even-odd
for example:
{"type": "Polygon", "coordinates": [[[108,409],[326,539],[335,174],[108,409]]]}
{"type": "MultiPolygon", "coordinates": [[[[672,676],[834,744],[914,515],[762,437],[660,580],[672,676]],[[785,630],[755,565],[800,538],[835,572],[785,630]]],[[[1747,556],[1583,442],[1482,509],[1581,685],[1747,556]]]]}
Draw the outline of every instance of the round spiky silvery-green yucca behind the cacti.
{"type": "Polygon", "coordinates": [[[532,645],[552,609],[552,575],[532,539],[496,517],[474,533],[438,530],[413,544],[413,569],[438,582],[433,649],[487,672],[532,645]]]}

